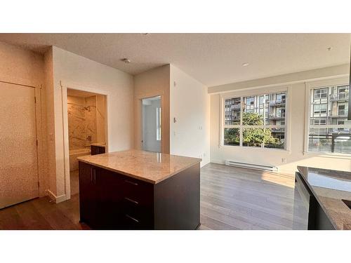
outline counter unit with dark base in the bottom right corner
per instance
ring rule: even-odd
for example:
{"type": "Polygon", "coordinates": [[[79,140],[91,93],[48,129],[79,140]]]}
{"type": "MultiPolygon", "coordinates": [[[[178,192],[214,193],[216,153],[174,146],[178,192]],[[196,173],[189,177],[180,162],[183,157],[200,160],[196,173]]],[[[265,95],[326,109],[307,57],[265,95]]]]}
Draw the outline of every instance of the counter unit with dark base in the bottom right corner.
{"type": "Polygon", "coordinates": [[[298,166],[296,187],[307,203],[308,229],[351,229],[351,173],[298,166]]]}

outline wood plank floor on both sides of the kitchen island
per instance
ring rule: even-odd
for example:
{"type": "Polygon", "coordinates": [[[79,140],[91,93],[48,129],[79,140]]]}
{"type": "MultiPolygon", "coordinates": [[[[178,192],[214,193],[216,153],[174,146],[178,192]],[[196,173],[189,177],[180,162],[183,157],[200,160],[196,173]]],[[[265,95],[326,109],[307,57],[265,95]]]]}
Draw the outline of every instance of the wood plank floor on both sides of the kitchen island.
{"type": "MultiPolygon", "coordinates": [[[[303,229],[304,207],[291,176],[209,163],[201,168],[200,229],[303,229]]],[[[0,210],[0,229],[88,229],[79,195],[36,198],[0,210]]]]}

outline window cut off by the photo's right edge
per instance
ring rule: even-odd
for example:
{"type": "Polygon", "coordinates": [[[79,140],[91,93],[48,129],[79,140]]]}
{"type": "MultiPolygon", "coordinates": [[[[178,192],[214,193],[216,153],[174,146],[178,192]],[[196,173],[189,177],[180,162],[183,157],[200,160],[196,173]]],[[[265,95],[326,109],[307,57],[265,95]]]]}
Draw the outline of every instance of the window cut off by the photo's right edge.
{"type": "Polygon", "coordinates": [[[347,85],[310,90],[308,151],[351,154],[348,92],[347,85]]]}

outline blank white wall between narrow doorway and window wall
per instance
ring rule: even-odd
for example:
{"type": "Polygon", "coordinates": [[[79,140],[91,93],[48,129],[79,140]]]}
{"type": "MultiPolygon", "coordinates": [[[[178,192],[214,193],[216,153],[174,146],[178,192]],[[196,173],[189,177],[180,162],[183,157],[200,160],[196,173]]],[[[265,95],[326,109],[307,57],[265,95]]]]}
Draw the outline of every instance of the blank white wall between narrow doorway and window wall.
{"type": "Polygon", "coordinates": [[[210,98],[207,87],[171,65],[171,154],[210,161],[210,98]],[[174,85],[176,83],[176,85],[174,85]],[[176,118],[176,123],[173,122],[176,118]]]}

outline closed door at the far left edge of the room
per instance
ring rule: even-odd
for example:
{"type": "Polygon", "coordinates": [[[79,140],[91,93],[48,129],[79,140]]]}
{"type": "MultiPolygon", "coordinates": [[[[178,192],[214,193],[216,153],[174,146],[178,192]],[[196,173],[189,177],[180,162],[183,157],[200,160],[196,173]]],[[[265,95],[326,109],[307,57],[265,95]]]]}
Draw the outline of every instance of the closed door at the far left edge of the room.
{"type": "Polygon", "coordinates": [[[0,208],[39,196],[34,92],[0,82],[0,208]]]}

